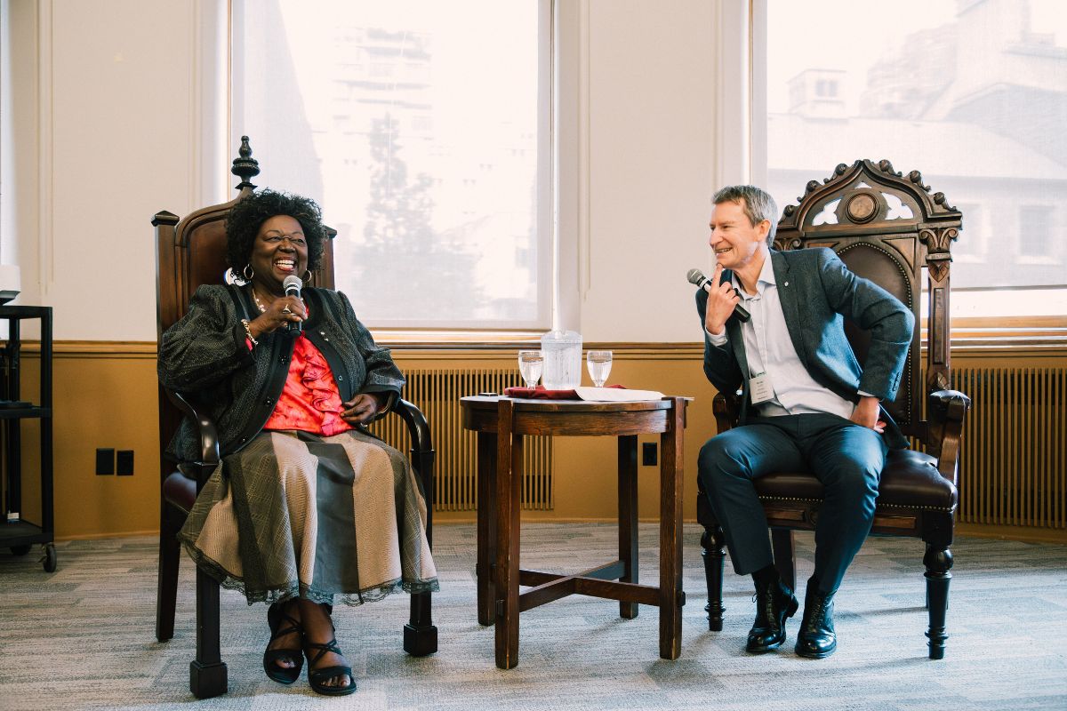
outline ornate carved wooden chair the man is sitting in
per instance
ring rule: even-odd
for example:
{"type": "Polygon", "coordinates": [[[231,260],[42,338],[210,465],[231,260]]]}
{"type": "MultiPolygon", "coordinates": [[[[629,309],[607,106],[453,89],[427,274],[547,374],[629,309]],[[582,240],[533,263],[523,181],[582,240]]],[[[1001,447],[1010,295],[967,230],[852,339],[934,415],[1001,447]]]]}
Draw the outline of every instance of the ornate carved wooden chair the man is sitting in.
{"type": "MultiPolygon", "coordinates": [[[[952,578],[953,527],[958,501],[959,440],[970,399],[951,388],[949,351],[950,245],[962,216],[942,193],[929,193],[918,171],[907,177],[889,161],[842,163],[822,183],[808,183],[799,205],[785,208],[775,238],[776,249],[830,247],[856,274],[899,298],[915,316],[896,400],[882,403],[912,449],[891,451],[882,471],[872,533],[913,536],[926,544],[926,602],[930,659],[944,657],[945,612],[952,578]],[[920,367],[921,278],[926,270],[929,310],[926,368],[920,367]],[[925,405],[925,414],[924,414],[925,405]]],[[[869,337],[846,323],[853,350],[862,363],[869,337]]],[[[714,410],[719,432],[737,422],[736,395],[718,394],[714,410]]],[[[780,472],[755,481],[771,531],[775,565],[796,588],[793,532],[812,531],[823,486],[806,472],[780,472]]],[[[722,629],[722,530],[701,491],[697,517],[707,577],[708,627],[722,629]]]]}

